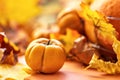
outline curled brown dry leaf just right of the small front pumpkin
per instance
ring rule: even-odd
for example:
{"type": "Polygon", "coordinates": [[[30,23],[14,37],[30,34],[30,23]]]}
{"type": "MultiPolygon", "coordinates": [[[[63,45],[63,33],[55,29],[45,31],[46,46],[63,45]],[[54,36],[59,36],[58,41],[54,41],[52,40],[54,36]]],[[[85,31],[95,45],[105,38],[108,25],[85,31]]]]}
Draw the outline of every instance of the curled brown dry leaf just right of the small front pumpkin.
{"type": "Polygon", "coordinates": [[[71,58],[82,64],[88,65],[94,52],[98,52],[85,36],[81,36],[74,41],[70,50],[71,58]]]}

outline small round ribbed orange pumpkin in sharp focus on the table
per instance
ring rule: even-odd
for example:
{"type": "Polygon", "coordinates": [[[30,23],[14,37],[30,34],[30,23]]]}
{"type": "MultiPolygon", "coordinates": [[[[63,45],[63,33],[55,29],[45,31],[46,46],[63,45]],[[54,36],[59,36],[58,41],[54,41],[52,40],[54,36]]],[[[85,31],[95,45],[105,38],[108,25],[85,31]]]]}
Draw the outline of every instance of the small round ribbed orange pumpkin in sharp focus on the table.
{"type": "Polygon", "coordinates": [[[62,43],[55,39],[40,38],[32,41],[25,52],[27,65],[36,72],[57,72],[66,60],[62,43]]]}

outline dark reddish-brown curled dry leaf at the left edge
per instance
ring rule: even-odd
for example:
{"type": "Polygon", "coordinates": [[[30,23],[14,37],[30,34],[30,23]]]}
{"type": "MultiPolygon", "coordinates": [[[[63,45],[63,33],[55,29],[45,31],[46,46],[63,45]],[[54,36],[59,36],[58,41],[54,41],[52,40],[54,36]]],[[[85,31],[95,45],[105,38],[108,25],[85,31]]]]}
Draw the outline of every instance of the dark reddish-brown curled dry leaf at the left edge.
{"type": "Polygon", "coordinates": [[[6,35],[0,33],[0,50],[1,50],[1,64],[16,64],[18,62],[17,54],[20,52],[20,49],[11,41],[8,40],[6,35]]]}

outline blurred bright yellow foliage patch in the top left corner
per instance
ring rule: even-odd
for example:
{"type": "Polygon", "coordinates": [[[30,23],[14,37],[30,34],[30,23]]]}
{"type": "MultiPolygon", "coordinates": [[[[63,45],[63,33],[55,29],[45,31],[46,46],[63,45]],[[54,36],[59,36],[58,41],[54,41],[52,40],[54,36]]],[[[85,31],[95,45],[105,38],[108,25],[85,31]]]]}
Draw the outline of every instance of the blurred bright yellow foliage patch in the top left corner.
{"type": "Polygon", "coordinates": [[[23,23],[40,11],[38,0],[0,0],[0,23],[7,21],[23,23]]]}

